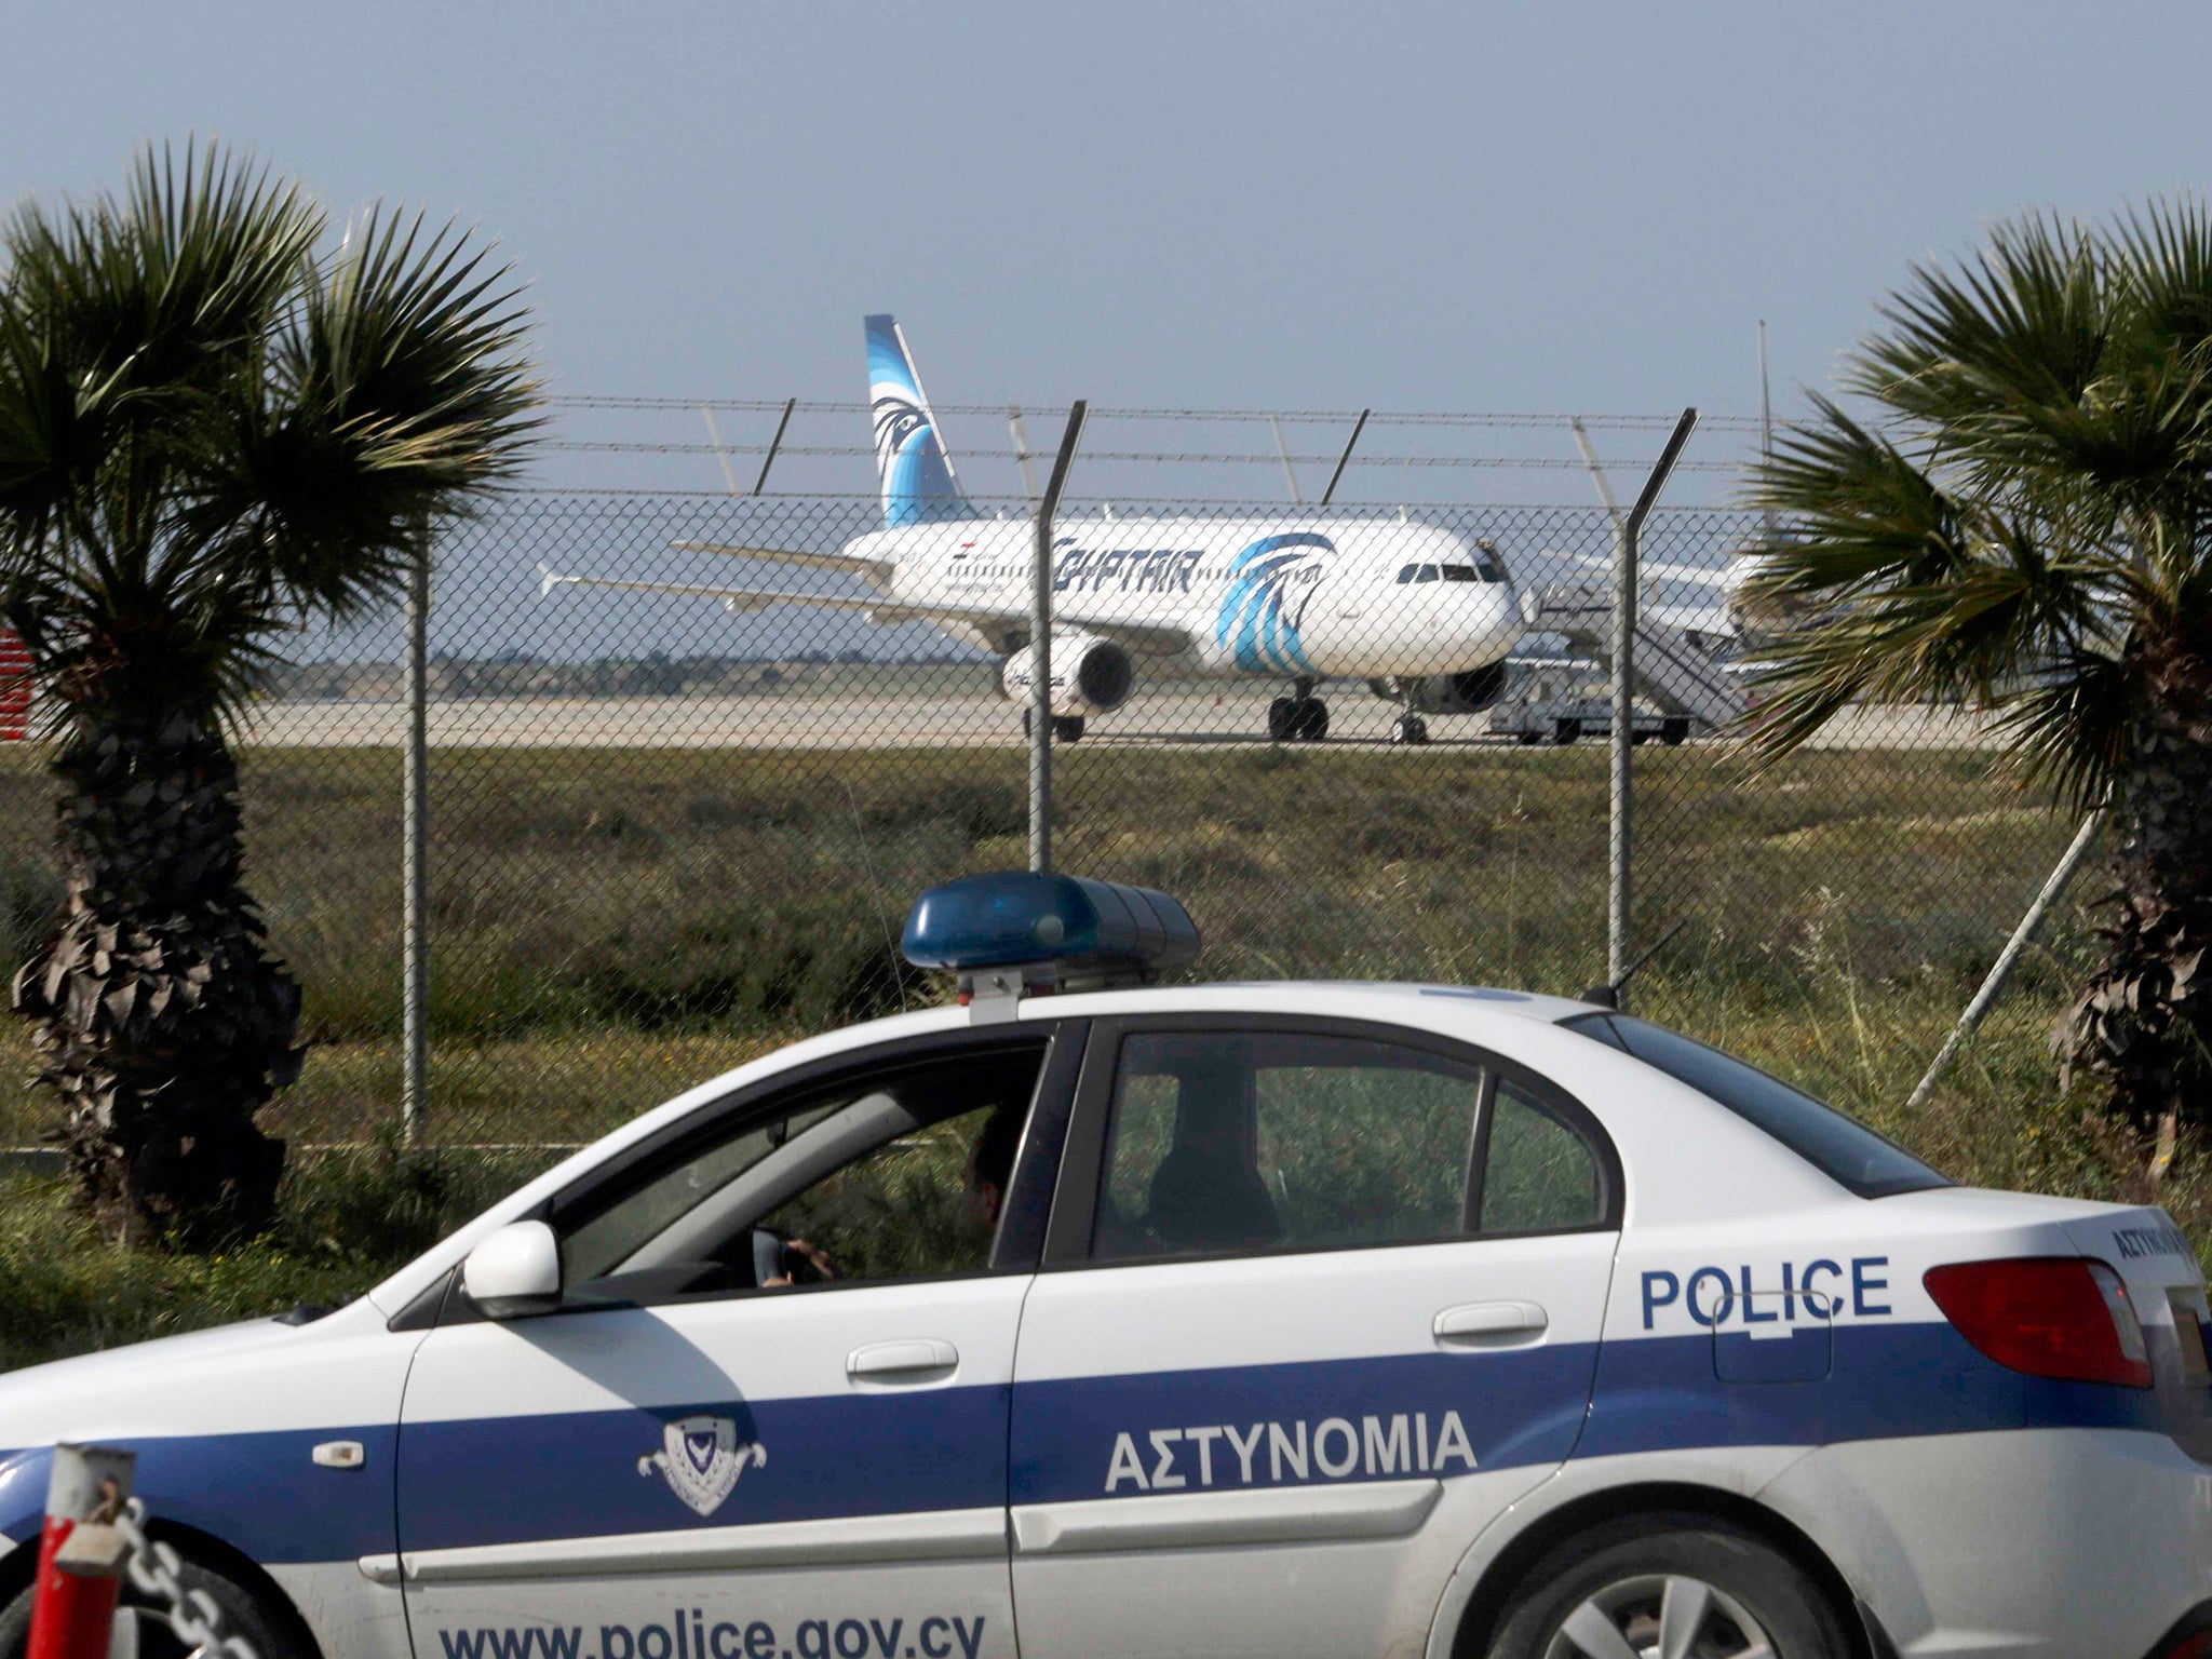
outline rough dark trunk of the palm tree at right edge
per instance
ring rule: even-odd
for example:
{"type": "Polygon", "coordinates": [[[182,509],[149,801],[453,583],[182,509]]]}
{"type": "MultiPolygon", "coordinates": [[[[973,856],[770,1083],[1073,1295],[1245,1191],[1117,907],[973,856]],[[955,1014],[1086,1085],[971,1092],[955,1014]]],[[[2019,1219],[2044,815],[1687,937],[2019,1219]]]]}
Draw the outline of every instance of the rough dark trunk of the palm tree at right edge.
{"type": "Polygon", "coordinates": [[[2117,1117],[2159,1137],[2157,1181],[2177,1135],[2212,1121],[2212,657],[2154,637],[2130,657],[2148,684],[2112,790],[2117,914],[2053,1044],[2068,1071],[2110,1082],[2117,1117]]]}

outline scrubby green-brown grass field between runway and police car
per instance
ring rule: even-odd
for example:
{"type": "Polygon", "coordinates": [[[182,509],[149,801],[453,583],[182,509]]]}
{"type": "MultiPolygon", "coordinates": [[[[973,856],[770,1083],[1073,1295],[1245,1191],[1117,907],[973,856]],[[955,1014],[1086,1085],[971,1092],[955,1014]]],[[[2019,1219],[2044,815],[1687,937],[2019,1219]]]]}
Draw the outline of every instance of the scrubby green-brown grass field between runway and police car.
{"type": "MultiPolygon", "coordinates": [[[[250,885],[305,982],[312,1044],[270,1124],[294,1144],[374,1141],[398,1102],[398,761],[254,750],[246,765],[250,885]]],[[[431,1137],[447,1146],[588,1139],[792,1035],[936,1000],[945,987],[891,949],[914,894],[1024,860],[1020,752],[469,750],[434,754],[431,774],[431,1137]]],[[[1601,978],[1593,745],[1095,745],[1062,750],[1057,776],[1062,867],[1181,896],[1210,978],[1568,993],[1601,978]]],[[[2044,1053],[2088,960],[2079,905],[1929,1108],[1900,1106],[2064,847],[2062,816],[1951,752],[1805,754],[1752,781],[1714,750],[1639,750],[1637,787],[1639,933],[1683,922],[1637,984],[1641,1013],[1953,1177],[2126,1190],[2130,1148],[2055,1099],[2044,1053]]],[[[18,953],[53,896],[44,799],[24,757],[0,763],[0,920],[18,953]]],[[[2077,898],[2095,891],[2084,880],[2077,898]]],[[[22,1026],[0,1024],[0,1062],[27,1073],[22,1026]]],[[[49,1117],[0,1091],[0,1144],[33,1144],[49,1117]]],[[[0,1363],[330,1294],[458,1219],[484,1179],[460,1157],[305,1159],[279,1239],[226,1267],[144,1270],[18,1183],[0,1199],[0,1363]],[[334,1230],[321,1217],[349,1203],[347,1181],[380,1197],[334,1230]],[[378,1223],[378,1206],[400,1221],[378,1223]],[[142,1281],[159,1294],[124,1290],[142,1281]]],[[[2190,1225],[2194,1152],[2168,1199],[2190,1225]]]]}

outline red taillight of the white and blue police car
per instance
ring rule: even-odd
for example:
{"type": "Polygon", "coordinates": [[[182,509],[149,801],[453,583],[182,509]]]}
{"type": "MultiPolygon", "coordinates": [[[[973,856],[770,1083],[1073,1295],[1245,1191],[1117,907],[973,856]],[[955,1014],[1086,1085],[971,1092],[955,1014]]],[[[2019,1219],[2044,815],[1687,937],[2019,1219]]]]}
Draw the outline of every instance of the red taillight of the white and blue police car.
{"type": "Polygon", "coordinates": [[[2101,1261],[2020,1256],[1929,1267],[1929,1296],[1997,1365],[2066,1383],[2150,1387],[2128,1287],[2101,1261]]]}

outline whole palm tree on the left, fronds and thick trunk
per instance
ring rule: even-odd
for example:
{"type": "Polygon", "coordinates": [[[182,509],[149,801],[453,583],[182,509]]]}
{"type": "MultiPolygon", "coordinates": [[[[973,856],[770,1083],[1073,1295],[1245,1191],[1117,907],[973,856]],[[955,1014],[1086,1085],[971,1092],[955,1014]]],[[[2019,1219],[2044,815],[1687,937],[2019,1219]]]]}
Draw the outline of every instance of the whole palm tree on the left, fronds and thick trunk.
{"type": "Polygon", "coordinates": [[[0,223],[0,619],[42,688],[66,898],[15,978],[71,1172],[126,1239],[254,1230],[299,984],[241,885],[228,728],[281,639],[389,602],[520,465],[538,389],[465,234],[146,150],[0,223]]]}

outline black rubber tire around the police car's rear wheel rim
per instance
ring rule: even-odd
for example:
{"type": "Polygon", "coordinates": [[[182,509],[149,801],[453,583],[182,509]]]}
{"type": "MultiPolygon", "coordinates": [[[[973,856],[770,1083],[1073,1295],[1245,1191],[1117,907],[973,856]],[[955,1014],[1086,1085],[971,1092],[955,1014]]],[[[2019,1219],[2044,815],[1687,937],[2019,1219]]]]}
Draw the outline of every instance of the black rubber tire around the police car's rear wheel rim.
{"type": "Polygon", "coordinates": [[[1703,1579],[1765,1626],[1776,1659],[1847,1659],[1845,1626],[1818,1584],[1756,1533],[1710,1515],[1641,1515],[1599,1526],[1542,1557],[1522,1579],[1489,1659],[1544,1659],[1566,1619],[1613,1584],[1652,1575],[1703,1579]]]}

